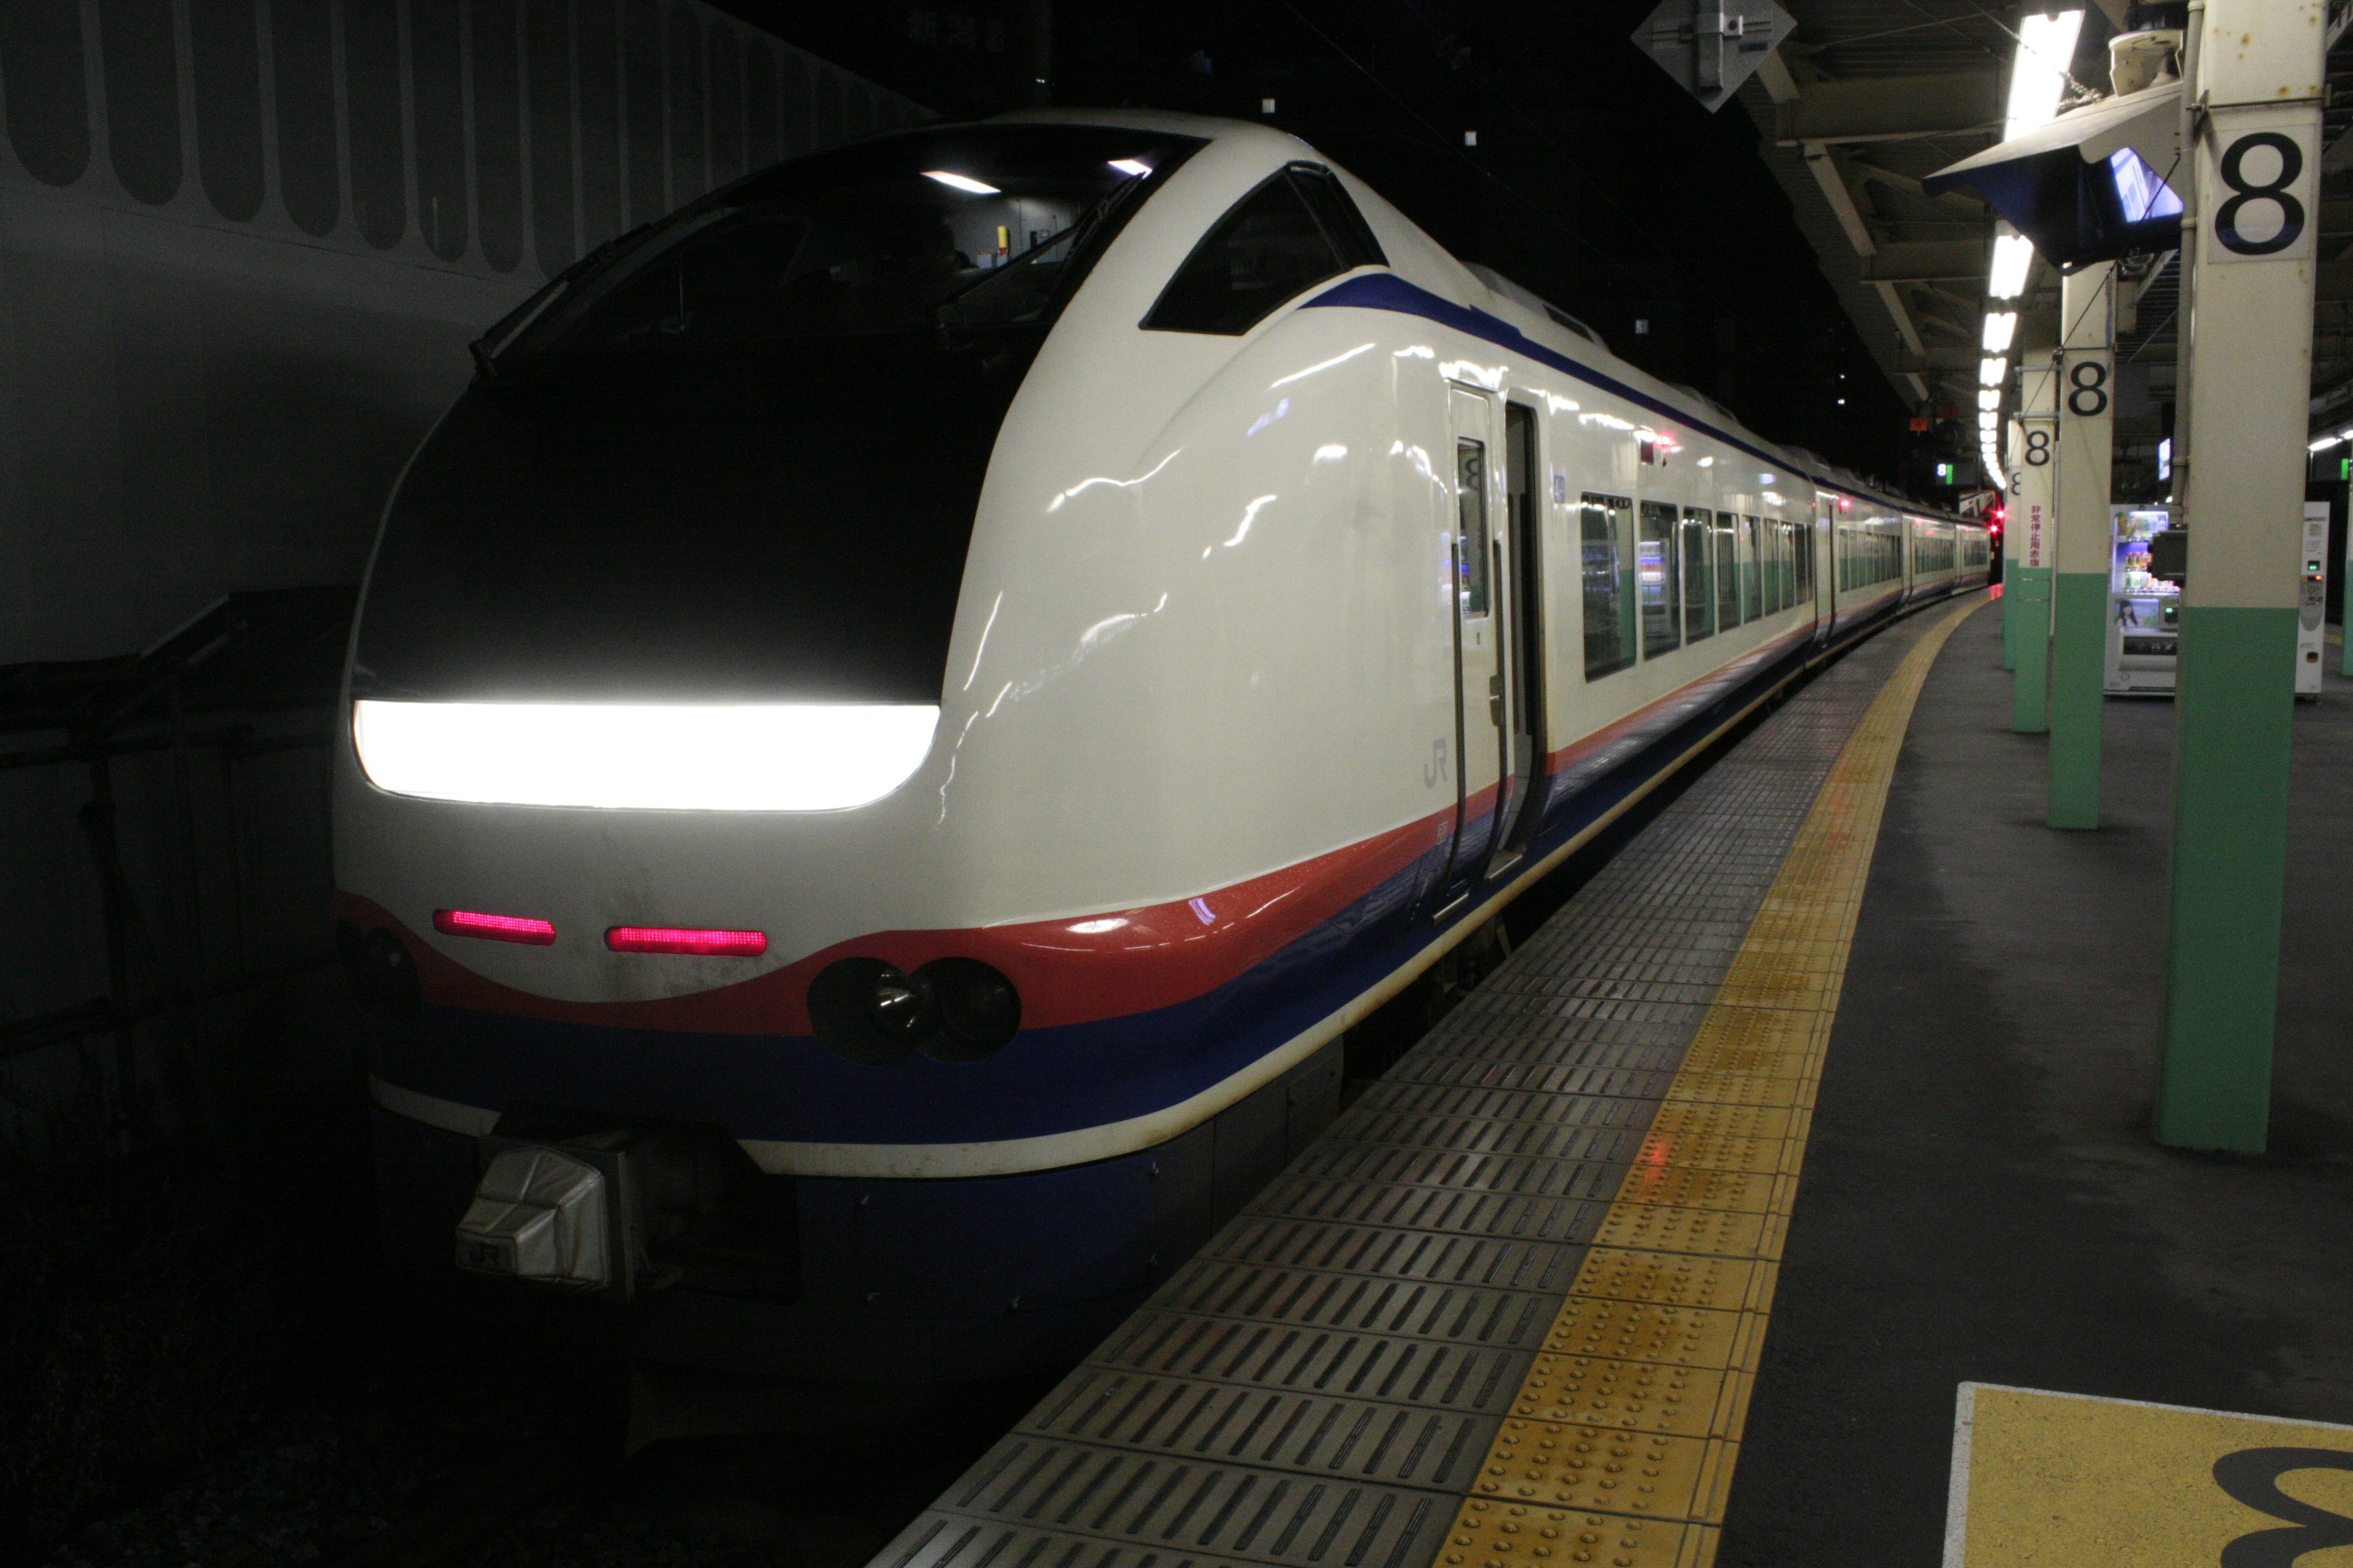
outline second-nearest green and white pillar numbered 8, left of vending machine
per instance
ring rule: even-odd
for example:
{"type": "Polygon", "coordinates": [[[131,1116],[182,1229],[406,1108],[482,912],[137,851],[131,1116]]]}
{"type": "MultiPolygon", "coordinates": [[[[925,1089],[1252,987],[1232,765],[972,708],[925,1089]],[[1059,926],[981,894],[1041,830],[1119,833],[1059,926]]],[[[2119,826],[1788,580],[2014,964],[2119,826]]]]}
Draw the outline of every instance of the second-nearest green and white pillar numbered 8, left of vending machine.
{"type": "Polygon", "coordinates": [[[2059,559],[2052,590],[2052,827],[2099,827],[2099,724],[2108,684],[2108,461],[2115,433],[2115,263],[2059,289],[2059,559]]]}

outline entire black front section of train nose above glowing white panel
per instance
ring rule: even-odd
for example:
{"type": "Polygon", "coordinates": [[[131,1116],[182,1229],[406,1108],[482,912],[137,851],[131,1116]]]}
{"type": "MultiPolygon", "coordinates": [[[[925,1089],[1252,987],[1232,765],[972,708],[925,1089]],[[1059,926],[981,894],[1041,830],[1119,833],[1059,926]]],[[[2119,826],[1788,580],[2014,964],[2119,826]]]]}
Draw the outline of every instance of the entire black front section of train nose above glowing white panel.
{"type": "Polygon", "coordinates": [[[911,132],[584,259],[393,496],[353,696],[936,703],[1005,409],[1193,146],[911,132]]]}

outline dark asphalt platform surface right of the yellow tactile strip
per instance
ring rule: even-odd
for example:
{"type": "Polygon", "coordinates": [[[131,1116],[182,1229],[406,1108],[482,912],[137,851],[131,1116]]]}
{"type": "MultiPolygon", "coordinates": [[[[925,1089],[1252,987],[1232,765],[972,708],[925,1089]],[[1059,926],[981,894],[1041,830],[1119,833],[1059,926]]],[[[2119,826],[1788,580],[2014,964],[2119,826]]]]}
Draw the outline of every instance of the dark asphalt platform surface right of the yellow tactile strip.
{"type": "MultiPolygon", "coordinates": [[[[2174,1154],[2148,1133],[2172,703],[2108,701],[2106,827],[2054,832],[2047,743],[2009,733],[2009,682],[1988,609],[1946,644],[1911,722],[1725,1566],[1944,1561],[1962,1382],[2353,1422],[2353,682],[2329,675],[2297,712],[2264,1159],[2174,1154]]],[[[2353,1521],[2325,1523],[2353,1476],[2322,1481],[2289,1483],[2320,1505],[2318,1533],[2273,1530],[2271,1556],[2242,1561],[2353,1542],[2353,1521]]]]}

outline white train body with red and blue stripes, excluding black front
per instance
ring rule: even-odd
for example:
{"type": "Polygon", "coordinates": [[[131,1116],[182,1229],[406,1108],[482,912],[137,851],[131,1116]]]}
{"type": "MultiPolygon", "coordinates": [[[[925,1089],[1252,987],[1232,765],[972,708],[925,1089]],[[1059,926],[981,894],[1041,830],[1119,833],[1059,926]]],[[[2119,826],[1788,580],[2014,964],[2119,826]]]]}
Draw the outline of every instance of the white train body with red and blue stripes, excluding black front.
{"type": "MultiPolygon", "coordinates": [[[[447,1234],[473,1140],[522,1103],[722,1126],[795,1190],[772,1371],[965,1375],[1099,1331],[1329,1114],[1346,1027],[1807,658],[1986,581],[1977,524],[1748,435],[1346,174],[1379,263],[1247,331],[1146,329],[1238,202],[1329,165],[1249,125],[1035,122],[1200,146],[1019,378],[896,788],[499,804],[339,752],[341,914],[393,933],[421,994],[374,1058],[393,1192],[447,1234]],[[449,910],[553,940],[438,931],[449,910]],[[612,950],[628,926],[765,952],[612,950]],[[944,957],[1012,983],[1009,1044],[814,1037],[835,961],[944,957]]],[[[628,733],[628,701],[567,701],[628,733]]]]}

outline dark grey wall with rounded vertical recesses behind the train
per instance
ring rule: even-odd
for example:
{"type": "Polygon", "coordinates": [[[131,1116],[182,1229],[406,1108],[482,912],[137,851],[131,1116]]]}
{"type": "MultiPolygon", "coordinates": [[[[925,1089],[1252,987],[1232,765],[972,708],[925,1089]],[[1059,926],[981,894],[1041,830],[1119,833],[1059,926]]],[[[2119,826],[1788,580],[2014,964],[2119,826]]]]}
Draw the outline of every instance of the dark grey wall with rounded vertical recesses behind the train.
{"type": "Polygon", "coordinates": [[[355,581],[482,327],[920,118],[694,2],[5,0],[0,663],[355,581]]]}

